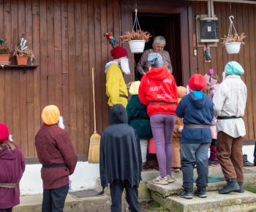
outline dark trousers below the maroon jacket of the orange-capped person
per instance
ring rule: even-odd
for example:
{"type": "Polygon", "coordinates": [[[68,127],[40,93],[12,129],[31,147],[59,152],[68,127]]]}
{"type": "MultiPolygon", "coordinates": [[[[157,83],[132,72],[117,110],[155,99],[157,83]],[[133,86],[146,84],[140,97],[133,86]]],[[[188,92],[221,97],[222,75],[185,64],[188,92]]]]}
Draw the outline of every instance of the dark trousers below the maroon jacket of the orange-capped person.
{"type": "Polygon", "coordinates": [[[68,191],[69,184],[57,189],[44,189],[42,194],[42,212],[63,211],[68,191]]]}

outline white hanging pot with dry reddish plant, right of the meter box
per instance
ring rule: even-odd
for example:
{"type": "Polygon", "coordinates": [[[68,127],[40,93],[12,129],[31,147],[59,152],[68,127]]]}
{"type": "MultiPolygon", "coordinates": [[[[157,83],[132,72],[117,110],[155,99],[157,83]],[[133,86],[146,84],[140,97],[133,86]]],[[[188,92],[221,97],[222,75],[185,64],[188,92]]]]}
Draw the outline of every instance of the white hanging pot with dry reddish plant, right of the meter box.
{"type": "Polygon", "coordinates": [[[231,35],[228,35],[227,37],[225,36],[225,38],[222,38],[223,40],[222,44],[225,45],[227,53],[229,54],[239,53],[241,44],[244,45],[243,39],[245,37],[246,36],[244,36],[244,32],[243,32],[240,36],[238,36],[238,34],[235,34],[234,36],[231,34],[231,35]]]}

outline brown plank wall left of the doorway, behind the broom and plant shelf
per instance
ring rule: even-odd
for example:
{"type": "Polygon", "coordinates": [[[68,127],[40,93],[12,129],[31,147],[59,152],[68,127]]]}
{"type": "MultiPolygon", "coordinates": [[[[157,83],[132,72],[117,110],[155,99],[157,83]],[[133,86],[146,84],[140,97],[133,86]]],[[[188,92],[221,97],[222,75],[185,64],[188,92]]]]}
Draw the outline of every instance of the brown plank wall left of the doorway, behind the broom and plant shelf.
{"type": "Polygon", "coordinates": [[[25,157],[37,156],[34,137],[47,105],[59,107],[78,155],[88,154],[94,130],[91,67],[97,132],[109,125],[104,70],[112,45],[105,32],[120,45],[119,16],[118,0],[0,0],[0,37],[13,45],[26,38],[39,65],[25,74],[0,68],[0,123],[7,124],[25,157]]]}

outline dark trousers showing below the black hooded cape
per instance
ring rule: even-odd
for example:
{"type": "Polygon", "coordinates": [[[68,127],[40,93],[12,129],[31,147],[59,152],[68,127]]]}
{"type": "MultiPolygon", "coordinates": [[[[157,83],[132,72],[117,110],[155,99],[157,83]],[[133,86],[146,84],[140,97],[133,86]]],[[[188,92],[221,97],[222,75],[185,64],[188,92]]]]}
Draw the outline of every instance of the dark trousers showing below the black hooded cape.
{"type": "Polygon", "coordinates": [[[111,212],[121,212],[121,195],[124,192],[124,188],[127,191],[127,202],[131,212],[139,212],[138,186],[132,187],[127,180],[110,183],[111,212]]]}

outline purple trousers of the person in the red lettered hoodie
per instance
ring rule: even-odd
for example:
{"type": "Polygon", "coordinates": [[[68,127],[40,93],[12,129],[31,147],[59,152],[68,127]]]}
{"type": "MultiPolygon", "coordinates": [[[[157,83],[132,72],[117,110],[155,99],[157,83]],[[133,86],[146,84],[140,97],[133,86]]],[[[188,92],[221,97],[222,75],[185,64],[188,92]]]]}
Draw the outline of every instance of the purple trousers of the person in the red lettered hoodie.
{"type": "Polygon", "coordinates": [[[172,137],[175,120],[176,116],[170,114],[155,114],[150,116],[151,129],[157,150],[159,173],[162,178],[172,174],[172,137]]]}

